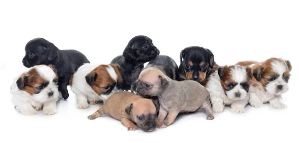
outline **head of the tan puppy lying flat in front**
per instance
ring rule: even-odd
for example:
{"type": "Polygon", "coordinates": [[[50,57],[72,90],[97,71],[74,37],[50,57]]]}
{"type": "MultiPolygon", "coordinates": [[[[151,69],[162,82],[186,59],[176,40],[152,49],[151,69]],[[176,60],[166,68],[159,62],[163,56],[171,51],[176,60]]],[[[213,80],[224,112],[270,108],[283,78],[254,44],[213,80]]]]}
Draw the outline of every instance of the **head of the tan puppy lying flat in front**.
{"type": "Polygon", "coordinates": [[[150,99],[136,100],[125,111],[143,130],[150,132],[155,129],[156,107],[150,99]]]}

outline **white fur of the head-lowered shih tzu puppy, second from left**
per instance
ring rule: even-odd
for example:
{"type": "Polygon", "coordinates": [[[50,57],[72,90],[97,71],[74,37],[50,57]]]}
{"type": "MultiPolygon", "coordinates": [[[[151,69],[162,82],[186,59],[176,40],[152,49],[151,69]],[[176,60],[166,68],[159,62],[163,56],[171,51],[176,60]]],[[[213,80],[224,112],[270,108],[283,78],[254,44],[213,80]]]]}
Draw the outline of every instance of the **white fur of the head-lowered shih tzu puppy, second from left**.
{"type": "MultiPolygon", "coordinates": [[[[77,98],[77,108],[85,109],[88,108],[88,102],[91,101],[105,101],[114,93],[119,92],[119,89],[114,89],[108,95],[98,95],[92,87],[86,82],[85,76],[94,70],[96,67],[100,66],[101,64],[84,64],[82,65],[78,71],[75,72],[73,75],[73,83],[71,85],[71,90],[76,94],[77,98]]],[[[114,69],[108,65],[106,68],[109,72],[109,75],[117,82],[117,74],[114,69]]]]}

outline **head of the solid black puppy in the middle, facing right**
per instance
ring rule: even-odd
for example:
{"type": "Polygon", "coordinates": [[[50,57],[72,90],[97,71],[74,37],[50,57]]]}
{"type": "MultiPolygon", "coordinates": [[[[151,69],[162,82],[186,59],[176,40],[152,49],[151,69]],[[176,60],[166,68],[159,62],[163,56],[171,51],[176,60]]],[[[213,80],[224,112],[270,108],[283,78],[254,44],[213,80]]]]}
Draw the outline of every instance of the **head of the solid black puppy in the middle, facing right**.
{"type": "Polygon", "coordinates": [[[152,44],[147,36],[135,36],[130,40],[124,50],[123,56],[138,63],[146,63],[159,55],[159,50],[152,44]]]}

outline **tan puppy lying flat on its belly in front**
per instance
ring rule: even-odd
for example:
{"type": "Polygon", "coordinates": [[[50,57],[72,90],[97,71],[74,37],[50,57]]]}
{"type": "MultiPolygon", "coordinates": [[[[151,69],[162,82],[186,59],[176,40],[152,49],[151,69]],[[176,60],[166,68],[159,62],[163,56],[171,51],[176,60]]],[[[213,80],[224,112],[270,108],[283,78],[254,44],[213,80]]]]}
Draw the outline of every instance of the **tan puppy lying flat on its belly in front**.
{"type": "Polygon", "coordinates": [[[128,91],[113,94],[107,99],[106,104],[87,118],[93,120],[103,114],[120,120],[129,131],[138,129],[133,122],[147,132],[155,129],[156,105],[150,99],[128,91]]]}

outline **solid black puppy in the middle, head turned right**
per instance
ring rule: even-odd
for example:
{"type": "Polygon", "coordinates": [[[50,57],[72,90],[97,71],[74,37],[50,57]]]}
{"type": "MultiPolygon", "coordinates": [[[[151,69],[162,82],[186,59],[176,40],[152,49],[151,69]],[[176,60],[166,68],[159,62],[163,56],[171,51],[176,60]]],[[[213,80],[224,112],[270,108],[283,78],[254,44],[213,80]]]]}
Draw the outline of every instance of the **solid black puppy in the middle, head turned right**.
{"type": "Polygon", "coordinates": [[[147,36],[135,36],[130,40],[123,55],[114,58],[111,64],[118,64],[122,70],[123,90],[130,90],[131,84],[138,79],[144,64],[160,54],[147,36]]]}

